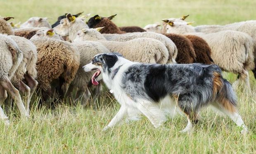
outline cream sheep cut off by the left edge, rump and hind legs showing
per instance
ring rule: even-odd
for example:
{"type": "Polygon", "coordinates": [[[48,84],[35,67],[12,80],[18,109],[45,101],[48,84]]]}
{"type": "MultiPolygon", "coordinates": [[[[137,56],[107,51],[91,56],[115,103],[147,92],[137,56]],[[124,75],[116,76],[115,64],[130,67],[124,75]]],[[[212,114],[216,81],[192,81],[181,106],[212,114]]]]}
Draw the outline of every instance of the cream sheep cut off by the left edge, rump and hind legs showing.
{"type": "MultiPolygon", "coordinates": [[[[8,92],[8,94],[14,98],[21,115],[28,117],[29,114],[21,100],[19,90],[17,90],[10,81],[10,78],[13,77],[23,59],[23,54],[15,41],[7,35],[0,34],[0,46],[0,106],[7,98],[8,92]]],[[[5,124],[9,124],[8,117],[4,114],[1,107],[0,119],[5,120],[5,124]]]]}

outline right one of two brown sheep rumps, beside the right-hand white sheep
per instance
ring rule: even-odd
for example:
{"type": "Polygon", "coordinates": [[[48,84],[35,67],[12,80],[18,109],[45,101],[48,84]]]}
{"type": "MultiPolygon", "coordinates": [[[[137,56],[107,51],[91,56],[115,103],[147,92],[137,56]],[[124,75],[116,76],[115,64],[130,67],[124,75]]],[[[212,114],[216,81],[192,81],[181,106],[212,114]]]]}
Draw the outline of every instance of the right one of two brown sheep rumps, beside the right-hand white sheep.
{"type": "Polygon", "coordinates": [[[195,35],[185,35],[185,37],[187,37],[193,45],[197,62],[203,64],[214,63],[211,59],[211,48],[204,39],[195,35]]]}

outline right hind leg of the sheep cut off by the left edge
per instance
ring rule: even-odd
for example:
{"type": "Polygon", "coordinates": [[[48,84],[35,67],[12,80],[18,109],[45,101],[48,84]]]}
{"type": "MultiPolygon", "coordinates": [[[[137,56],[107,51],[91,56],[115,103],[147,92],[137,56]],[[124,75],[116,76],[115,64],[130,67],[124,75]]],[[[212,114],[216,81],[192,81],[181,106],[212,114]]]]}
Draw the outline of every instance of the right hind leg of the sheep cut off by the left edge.
{"type": "Polygon", "coordinates": [[[15,99],[17,107],[24,117],[29,117],[24,104],[22,103],[21,96],[19,94],[19,90],[17,90],[11,83],[11,81],[7,78],[5,81],[0,81],[0,85],[15,99]]]}

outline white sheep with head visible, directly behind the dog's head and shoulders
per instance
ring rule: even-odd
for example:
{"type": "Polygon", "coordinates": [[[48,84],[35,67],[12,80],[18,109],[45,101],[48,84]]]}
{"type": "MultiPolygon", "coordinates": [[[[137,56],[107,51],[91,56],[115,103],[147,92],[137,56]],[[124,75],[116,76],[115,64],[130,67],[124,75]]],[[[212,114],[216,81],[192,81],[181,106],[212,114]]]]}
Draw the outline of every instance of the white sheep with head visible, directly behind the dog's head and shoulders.
{"type": "Polygon", "coordinates": [[[98,41],[111,52],[119,52],[131,61],[158,64],[166,64],[168,61],[169,53],[167,48],[156,39],[138,38],[125,42],[107,41],[99,32],[101,29],[80,30],[77,32],[77,37],[74,41],[98,41]]]}

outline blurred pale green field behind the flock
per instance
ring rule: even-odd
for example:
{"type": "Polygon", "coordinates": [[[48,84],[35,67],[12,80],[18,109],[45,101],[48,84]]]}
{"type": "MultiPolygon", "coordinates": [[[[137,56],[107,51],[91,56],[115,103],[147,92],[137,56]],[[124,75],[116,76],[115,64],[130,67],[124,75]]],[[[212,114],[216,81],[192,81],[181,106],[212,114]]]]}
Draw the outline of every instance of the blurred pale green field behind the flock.
{"type": "Polygon", "coordinates": [[[190,14],[187,21],[194,25],[227,24],[256,19],[256,0],[0,0],[0,16],[15,17],[12,22],[24,22],[32,16],[57,17],[76,14],[117,14],[113,21],[119,26],[144,27],[161,22],[161,18],[190,14]]]}

